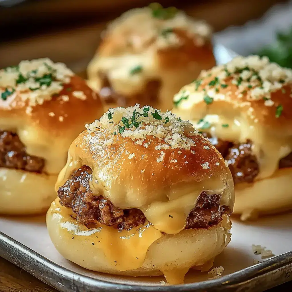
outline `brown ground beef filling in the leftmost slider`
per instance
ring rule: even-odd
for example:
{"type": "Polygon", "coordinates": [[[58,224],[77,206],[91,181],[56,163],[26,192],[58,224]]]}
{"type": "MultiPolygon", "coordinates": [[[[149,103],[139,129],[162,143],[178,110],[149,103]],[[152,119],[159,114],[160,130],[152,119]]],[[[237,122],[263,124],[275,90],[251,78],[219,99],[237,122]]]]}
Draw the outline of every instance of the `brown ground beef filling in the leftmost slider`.
{"type": "Polygon", "coordinates": [[[44,165],[44,159],[26,153],[17,134],[0,131],[0,167],[41,173],[44,165]]]}

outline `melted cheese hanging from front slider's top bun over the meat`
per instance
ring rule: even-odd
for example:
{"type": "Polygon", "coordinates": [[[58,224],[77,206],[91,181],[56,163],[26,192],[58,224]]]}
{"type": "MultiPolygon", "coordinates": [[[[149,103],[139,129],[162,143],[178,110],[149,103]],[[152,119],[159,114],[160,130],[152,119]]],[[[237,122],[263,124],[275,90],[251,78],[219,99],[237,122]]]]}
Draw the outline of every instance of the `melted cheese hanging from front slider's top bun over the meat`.
{"type": "MultiPolygon", "coordinates": [[[[94,164],[94,161],[82,161],[75,151],[72,151],[72,148],[70,148],[68,152],[67,164],[58,176],[55,190],[57,191],[66,180],[68,180],[75,169],[84,164],[88,165],[93,171],[92,180],[90,182],[92,192],[95,194],[102,194],[103,197],[109,198],[114,206],[126,209],[127,207],[125,206],[129,204],[128,202],[130,200],[132,202],[144,201],[141,197],[145,194],[140,193],[138,189],[136,192],[133,192],[131,188],[127,189],[126,186],[121,186],[118,179],[110,183],[110,190],[106,190],[101,183],[104,180],[102,176],[105,175],[106,177],[103,169],[99,169],[98,166],[94,164]],[[117,184],[117,186],[115,184],[117,184]]],[[[231,175],[228,179],[230,181],[232,180],[231,175]]],[[[104,184],[106,183],[104,182],[104,184]]],[[[177,234],[184,229],[187,217],[196,205],[203,191],[207,191],[209,194],[222,194],[221,204],[230,206],[231,208],[233,206],[232,194],[227,188],[226,181],[216,177],[202,182],[183,183],[172,186],[168,191],[164,190],[163,196],[161,197],[159,197],[157,190],[154,189],[154,191],[157,196],[150,204],[128,206],[128,208],[139,208],[156,229],[167,234],[177,234]]],[[[147,194],[147,196],[149,197],[149,194],[147,194]]]]}

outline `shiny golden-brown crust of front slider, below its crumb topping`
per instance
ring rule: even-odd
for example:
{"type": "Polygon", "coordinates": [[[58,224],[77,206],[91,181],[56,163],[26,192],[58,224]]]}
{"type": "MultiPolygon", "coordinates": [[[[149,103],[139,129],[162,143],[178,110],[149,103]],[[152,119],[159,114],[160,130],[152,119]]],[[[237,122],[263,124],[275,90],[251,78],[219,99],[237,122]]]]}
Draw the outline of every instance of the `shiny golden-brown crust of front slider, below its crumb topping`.
{"type": "Polygon", "coordinates": [[[89,167],[102,170],[106,177],[103,184],[107,188],[117,179],[133,188],[149,189],[150,193],[156,187],[168,189],[182,182],[201,182],[214,176],[228,181],[230,171],[219,152],[201,135],[194,135],[192,139],[196,146],[190,150],[156,150],[157,138],[146,138],[138,145],[128,137],[106,135],[102,129],[97,129],[91,134],[82,132],[69,152],[89,167]],[[111,138],[112,143],[107,144],[111,138]],[[148,142],[146,148],[144,145],[148,142]]]}

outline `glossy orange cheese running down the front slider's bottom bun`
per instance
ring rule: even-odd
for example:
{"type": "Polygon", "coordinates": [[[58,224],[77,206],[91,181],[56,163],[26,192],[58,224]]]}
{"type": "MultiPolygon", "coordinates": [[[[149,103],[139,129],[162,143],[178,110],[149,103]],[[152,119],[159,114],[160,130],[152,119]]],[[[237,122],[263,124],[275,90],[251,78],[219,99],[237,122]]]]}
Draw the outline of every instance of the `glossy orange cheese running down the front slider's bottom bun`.
{"type": "Polygon", "coordinates": [[[75,214],[69,208],[60,206],[59,199],[53,202],[49,212],[53,213],[53,216],[59,217],[61,229],[68,231],[72,237],[74,236],[74,244],[85,239],[88,248],[101,249],[107,257],[109,265],[120,271],[141,267],[149,246],[162,235],[150,224],[134,227],[130,231],[119,231],[105,225],[88,229],[83,224],[77,224],[77,221],[70,217],[75,214]]]}

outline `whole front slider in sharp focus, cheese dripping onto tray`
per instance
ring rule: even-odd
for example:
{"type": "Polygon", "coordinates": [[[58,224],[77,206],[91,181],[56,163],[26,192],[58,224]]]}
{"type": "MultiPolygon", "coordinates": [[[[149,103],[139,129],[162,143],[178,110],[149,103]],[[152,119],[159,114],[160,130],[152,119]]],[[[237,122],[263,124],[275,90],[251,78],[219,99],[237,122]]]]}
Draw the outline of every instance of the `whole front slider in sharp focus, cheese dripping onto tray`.
{"type": "Polygon", "coordinates": [[[230,241],[233,181],[215,147],[171,112],[110,109],[72,143],[47,227],[58,251],[90,270],[208,270],[230,241]]]}

